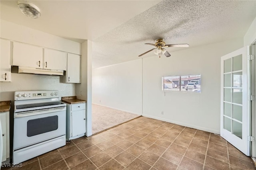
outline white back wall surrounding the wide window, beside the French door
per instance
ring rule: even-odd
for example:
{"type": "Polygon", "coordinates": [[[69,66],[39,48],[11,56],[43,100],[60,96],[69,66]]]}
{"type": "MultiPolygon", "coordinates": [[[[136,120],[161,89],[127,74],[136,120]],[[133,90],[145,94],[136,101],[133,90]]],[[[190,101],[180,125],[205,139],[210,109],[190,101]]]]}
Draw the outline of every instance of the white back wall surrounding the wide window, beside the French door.
{"type": "Polygon", "coordinates": [[[235,39],[144,58],[142,115],[220,134],[220,57],[241,47],[235,39]],[[200,94],[161,91],[162,76],[187,74],[201,74],[200,94]]]}

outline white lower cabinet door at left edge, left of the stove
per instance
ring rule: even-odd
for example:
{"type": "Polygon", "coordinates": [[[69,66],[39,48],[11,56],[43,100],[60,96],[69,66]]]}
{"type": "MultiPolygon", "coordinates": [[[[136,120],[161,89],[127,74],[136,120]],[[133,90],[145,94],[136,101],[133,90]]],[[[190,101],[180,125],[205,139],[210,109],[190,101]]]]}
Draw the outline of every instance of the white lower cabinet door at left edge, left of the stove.
{"type": "Polygon", "coordinates": [[[5,113],[0,113],[0,121],[1,121],[1,127],[2,127],[2,134],[0,134],[3,139],[3,154],[2,154],[2,161],[5,161],[7,158],[7,149],[6,149],[6,144],[7,144],[7,134],[6,134],[6,112],[5,113]]]}

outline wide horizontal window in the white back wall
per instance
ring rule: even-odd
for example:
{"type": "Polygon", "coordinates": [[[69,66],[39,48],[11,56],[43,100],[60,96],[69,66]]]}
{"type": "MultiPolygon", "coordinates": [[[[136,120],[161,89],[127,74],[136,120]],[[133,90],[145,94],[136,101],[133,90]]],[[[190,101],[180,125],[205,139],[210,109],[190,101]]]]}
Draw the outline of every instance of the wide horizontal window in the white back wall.
{"type": "Polygon", "coordinates": [[[201,74],[163,76],[162,91],[201,92],[201,74]]]}

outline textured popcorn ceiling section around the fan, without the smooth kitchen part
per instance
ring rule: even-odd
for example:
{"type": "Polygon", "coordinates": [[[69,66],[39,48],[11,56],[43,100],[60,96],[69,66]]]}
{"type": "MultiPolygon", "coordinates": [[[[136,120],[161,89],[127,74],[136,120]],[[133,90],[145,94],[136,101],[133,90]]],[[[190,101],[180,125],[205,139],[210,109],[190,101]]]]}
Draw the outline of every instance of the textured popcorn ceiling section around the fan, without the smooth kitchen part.
{"type": "MultiPolygon", "coordinates": [[[[93,42],[93,67],[138,59],[164,38],[190,47],[243,37],[256,17],[256,1],[162,1],[93,42]]],[[[184,47],[168,47],[169,52],[184,47]]],[[[153,51],[143,57],[154,56],[153,51]]]]}

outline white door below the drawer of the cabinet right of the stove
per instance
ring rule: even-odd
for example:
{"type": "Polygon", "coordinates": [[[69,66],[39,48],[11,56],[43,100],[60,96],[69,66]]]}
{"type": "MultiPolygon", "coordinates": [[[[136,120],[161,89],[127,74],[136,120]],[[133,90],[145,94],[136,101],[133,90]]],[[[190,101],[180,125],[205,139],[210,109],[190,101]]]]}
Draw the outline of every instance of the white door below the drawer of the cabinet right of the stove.
{"type": "Polygon", "coordinates": [[[72,137],[85,133],[85,110],[72,111],[72,137]]]}

